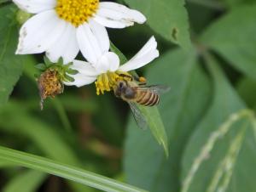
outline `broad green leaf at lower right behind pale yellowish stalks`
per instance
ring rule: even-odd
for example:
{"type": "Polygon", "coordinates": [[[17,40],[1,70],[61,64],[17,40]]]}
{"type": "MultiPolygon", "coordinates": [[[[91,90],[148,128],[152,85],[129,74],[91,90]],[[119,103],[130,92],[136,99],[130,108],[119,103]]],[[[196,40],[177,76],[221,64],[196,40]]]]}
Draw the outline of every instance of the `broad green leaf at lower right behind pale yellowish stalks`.
{"type": "Polygon", "coordinates": [[[214,81],[210,109],[195,129],[183,155],[182,192],[255,191],[255,139],[252,112],[208,58],[214,81]],[[250,178],[248,178],[250,172],[250,178]]]}

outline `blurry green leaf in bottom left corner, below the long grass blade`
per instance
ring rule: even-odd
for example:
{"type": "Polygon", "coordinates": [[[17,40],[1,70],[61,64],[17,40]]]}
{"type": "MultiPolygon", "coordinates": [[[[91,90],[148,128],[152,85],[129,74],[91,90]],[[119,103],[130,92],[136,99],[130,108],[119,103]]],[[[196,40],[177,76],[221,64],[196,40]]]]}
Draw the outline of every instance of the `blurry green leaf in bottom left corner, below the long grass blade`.
{"type": "Polygon", "coordinates": [[[33,170],[21,172],[15,178],[11,178],[9,183],[4,186],[3,192],[34,192],[46,178],[43,172],[33,170]]]}

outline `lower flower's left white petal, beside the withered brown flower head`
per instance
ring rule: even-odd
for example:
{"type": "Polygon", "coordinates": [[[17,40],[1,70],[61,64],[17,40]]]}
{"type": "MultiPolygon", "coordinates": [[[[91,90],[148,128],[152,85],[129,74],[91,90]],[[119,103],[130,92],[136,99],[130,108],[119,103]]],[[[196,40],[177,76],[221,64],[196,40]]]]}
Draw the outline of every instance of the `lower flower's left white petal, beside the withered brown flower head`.
{"type": "Polygon", "coordinates": [[[84,76],[83,74],[78,73],[77,75],[72,76],[74,78],[74,82],[64,82],[67,86],[76,86],[78,88],[88,85],[92,82],[96,81],[96,77],[92,76],[84,76]]]}

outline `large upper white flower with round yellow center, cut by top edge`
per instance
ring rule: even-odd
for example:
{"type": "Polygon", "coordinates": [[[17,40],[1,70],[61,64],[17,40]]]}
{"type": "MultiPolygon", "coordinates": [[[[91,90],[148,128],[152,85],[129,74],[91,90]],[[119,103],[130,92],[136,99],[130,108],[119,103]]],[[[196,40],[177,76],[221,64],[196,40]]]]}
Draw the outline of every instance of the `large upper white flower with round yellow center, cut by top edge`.
{"type": "Polygon", "coordinates": [[[124,28],[146,20],[137,10],[99,0],[14,0],[14,3],[35,14],[20,29],[16,54],[46,52],[55,62],[61,57],[64,63],[73,61],[79,50],[85,58],[90,51],[108,52],[105,27],[124,28]]]}

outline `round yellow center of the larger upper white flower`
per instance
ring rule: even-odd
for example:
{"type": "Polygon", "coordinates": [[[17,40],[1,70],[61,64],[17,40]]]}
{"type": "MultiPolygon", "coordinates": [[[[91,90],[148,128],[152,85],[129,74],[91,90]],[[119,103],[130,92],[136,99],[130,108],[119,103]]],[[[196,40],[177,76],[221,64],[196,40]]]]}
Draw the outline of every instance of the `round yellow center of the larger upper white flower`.
{"type": "Polygon", "coordinates": [[[99,0],[57,0],[55,10],[63,20],[78,27],[86,22],[99,7],[99,0]]]}

